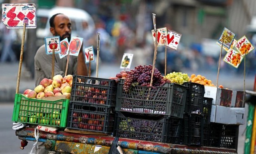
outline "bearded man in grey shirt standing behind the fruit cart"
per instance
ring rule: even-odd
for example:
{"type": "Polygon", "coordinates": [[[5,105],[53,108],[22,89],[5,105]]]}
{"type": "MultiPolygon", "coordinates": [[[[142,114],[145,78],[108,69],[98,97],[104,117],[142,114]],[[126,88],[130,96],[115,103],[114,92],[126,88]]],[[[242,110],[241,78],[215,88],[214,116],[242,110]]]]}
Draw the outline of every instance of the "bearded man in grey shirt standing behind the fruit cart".
{"type": "MultiPolygon", "coordinates": [[[[60,40],[68,38],[71,39],[71,20],[62,13],[57,13],[50,18],[50,31],[53,36],[60,36],[60,40]]],[[[52,55],[45,53],[45,45],[38,48],[35,54],[35,85],[39,85],[42,79],[51,79],[52,75],[52,55]]],[[[83,47],[81,47],[78,56],[70,56],[68,61],[67,74],[87,76],[87,66],[85,64],[83,47]]],[[[65,75],[67,56],[60,59],[59,56],[55,56],[54,62],[54,75],[65,75]]],[[[48,154],[48,150],[45,150],[44,143],[39,142],[39,154],[48,154]]]]}

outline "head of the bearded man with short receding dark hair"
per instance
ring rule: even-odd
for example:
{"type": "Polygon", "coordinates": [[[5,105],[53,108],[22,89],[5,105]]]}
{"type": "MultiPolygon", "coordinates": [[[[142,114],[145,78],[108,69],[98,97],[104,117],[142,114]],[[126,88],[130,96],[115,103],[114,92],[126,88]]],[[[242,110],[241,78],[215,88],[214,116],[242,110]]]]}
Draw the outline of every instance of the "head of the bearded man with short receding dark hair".
{"type": "Polygon", "coordinates": [[[59,14],[54,18],[54,27],[51,27],[51,33],[54,36],[60,35],[60,40],[71,39],[71,21],[66,15],[59,14]]]}

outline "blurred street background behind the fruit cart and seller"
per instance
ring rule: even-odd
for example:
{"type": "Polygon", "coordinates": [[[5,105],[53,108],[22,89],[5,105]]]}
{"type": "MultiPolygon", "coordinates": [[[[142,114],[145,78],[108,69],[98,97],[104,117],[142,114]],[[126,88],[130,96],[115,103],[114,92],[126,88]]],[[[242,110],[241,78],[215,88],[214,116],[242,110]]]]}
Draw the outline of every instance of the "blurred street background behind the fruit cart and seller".
{"type": "MultiPolygon", "coordinates": [[[[93,46],[95,54],[97,32],[100,33],[99,77],[108,78],[119,73],[124,53],[133,53],[131,69],[137,65],[152,64],[154,44],[151,34],[152,13],[157,15],[157,28],[167,27],[181,33],[178,50],[167,50],[167,73],[178,71],[188,75],[201,74],[216,84],[218,60],[221,47],[216,44],[223,28],[243,35],[256,47],[256,1],[255,0],[0,0],[1,3],[35,3],[37,28],[26,29],[20,90],[34,88],[34,55],[44,44],[49,33],[51,10],[62,7],[72,16],[72,35],[84,38],[84,48],[93,46]],[[88,16],[72,14],[72,9],[82,10],[88,16]],[[80,18],[83,19],[80,19],[80,18]]],[[[0,106],[1,124],[0,154],[22,154],[20,140],[11,129],[12,106],[15,97],[22,29],[7,30],[0,23],[0,106]],[[11,41],[8,52],[6,41],[11,41]],[[8,118],[7,118],[8,117],[8,118]],[[6,133],[3,133],[6,132],[6,133]],[[10,137],[11,136],[11,137],[10,137]],[[8,142],[4,139],[9,138],[8,142]],[[15,148],[5,148],[5,147],[15,148]]],[[[218,83],[224,88],[243,90],[244,61],[238,68],[223,62],[222,51],[218,83]]],[[[156,67],[164,74],[165,48],[157,48],[156,67]]],[[[245,89],[253,90],[256,75],[256,51],[246,56],[245,89]]],[[[92,76],[95,76],[95,63],[92,76]]],[[[247,106],[246,106],[247,111],[247,106]]],[[[247,114],[245,115],[247,116],[247,114]]],[[[239,130],[238,154],[243,154],[246,125],[239,130]]],[[[31,150],[33,142],[26,147],[31,150]]]]}

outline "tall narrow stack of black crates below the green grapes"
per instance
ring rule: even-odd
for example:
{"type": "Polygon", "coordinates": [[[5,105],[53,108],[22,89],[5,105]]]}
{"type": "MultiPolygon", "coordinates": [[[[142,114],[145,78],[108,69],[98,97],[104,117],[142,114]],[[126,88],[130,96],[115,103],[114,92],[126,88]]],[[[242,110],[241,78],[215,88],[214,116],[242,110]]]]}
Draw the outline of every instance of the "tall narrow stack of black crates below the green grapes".
{"type": "Polygon", "coordinates": [[[204,127],[204,86],[194,82],[183,84],[187,89],[185,112],[183,117],[183,132],[181,143],[185,145],[203,145],[204,127]]]}

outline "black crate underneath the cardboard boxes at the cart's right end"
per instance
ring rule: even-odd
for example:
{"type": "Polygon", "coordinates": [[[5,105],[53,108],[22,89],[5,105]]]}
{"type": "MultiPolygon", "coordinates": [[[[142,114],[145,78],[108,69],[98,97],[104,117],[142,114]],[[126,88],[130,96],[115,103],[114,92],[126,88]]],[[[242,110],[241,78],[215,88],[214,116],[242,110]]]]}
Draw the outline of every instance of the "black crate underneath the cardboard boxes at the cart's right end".
{"type": "Polygon", "coordinates": [[[209,147],[237,150],[239,125],[210,124],[209,147]]]}

